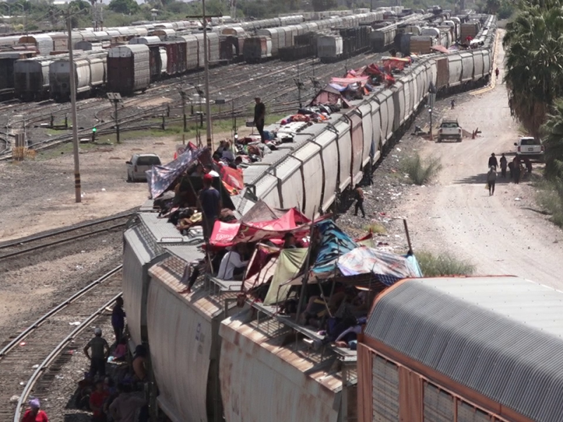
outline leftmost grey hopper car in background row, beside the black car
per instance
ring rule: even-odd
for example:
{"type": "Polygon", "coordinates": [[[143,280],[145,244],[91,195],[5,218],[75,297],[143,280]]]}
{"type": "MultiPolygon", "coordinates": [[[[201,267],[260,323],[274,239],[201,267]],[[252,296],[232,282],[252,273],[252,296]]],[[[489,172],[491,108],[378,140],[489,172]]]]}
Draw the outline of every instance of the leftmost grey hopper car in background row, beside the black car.
{"type": "Polygon", "coordinates": [[[14,95],[24,101],[41,101],[49,97],[48,57],[17,60],[13,66],[14,95]]]}

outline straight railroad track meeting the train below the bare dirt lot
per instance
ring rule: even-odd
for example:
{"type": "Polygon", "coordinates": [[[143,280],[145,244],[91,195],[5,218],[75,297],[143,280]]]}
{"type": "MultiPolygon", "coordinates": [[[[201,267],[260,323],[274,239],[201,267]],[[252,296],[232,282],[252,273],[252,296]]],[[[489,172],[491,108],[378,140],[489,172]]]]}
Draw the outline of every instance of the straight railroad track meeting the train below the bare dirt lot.
{"type": "Polygon", "coordinates": [[[127,212],[125,214],[96,219],[91,222],[77,224],[37,236],[29,236],[15,241],[0,243],[0,262],[7,258],[20,257],[31,252],[36,252],[37,250],[75,241],[94,234],[121,229],[133,215],[133,212],[127,212]]]}

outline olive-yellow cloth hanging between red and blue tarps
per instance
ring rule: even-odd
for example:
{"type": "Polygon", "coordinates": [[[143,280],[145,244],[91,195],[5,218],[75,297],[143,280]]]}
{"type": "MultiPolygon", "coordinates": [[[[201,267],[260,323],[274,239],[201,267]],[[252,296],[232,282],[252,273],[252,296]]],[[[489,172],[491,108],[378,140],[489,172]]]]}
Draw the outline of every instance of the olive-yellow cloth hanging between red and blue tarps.
{"type": "Polygon", "coordinates": [[[291,288],[286,281],[294,279],[301,272],[307,258],[307,251],[307,248],[281,250],[264,305],[275,305],[285,300],[291,288]]]}

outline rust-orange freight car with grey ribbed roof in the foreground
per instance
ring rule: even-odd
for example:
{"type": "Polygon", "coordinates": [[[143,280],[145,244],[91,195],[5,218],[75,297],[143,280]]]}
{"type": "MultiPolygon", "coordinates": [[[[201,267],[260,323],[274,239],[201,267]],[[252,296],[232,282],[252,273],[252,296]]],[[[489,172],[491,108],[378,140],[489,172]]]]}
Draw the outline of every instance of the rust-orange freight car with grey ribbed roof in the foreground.
{"type": "Polygon", "coordinates": [[[399,281],[358,341],[356,420],[560,421],[562,300],[516,276],[399,281]]]}

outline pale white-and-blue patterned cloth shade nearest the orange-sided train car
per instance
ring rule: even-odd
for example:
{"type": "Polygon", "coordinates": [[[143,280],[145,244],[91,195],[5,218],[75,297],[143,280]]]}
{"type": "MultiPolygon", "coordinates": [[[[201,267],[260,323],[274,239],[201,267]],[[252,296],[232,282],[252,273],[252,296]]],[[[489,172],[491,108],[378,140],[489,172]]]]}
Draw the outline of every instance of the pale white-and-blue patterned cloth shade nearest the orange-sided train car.
{"type": "Polygon", "coordinates": [[[374,274],[386,286],[401,279],[422,277],[414,255],[396,255],[363,246],[339,257],[338,267],[343,276],[374,274]]]}

